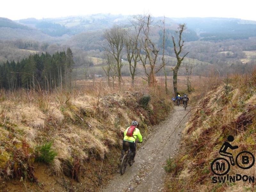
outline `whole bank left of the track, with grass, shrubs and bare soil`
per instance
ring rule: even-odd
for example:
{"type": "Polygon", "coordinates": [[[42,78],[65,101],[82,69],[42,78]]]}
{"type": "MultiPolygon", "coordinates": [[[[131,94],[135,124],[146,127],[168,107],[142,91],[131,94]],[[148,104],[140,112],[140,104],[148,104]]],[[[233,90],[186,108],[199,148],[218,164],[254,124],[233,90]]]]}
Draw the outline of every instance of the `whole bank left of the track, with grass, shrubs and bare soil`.
{"type": "Polygon", "coordinates": [[[1,188],[95,191],[118,170],[131,121],[146,136],[170,110],[161,86],[117,90],[99,82],[70,92],[1,91],[1,188]]]}

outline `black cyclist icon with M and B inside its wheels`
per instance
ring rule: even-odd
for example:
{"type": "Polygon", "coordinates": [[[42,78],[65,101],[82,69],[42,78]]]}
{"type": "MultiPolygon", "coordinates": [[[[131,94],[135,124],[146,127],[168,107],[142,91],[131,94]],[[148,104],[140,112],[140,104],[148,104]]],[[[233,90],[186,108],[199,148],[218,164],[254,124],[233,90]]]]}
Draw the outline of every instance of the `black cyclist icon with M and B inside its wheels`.
{"type": "MultiPolygon", "coordinates": [[[[234,141],[234,137],[232,135],[229,135],[227,140],[229,142],[234,141]]],[[[228,153],[227,149],[230,148],[232,150],[237,149],[238,146],[232,146],[229,142],[224,142],[223,145],[220,148],[220,155],[229,157],[230,163],[232,166],[235,166],[235,161],[232,153],[228,153]]],[[[255,162],[255,158],[249,151],[242,151],[238,153],[236,156],[236,165],[241,169],[250,169],[255,162]]],[[[223,157],[219,157],[217,159],[214,159],[211,164],[211,170],[216,175],[225,175],[230,170],[230,163],[227,159],[223,157]]]]}

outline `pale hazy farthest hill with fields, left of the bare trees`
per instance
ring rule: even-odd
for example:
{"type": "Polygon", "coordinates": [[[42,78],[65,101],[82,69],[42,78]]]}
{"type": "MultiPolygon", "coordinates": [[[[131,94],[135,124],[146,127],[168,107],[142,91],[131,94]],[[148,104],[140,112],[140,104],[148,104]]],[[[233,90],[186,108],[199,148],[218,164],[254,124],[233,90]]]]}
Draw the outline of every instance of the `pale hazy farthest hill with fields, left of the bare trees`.
{"type": "Polygon", "coordinates": [[[96,31],[111,28],[113,25],[131,25],[131,16],[93,14],[86,16],[70,16],[62,18],[48,18],[37,20],[28,18],[17,22],[37,28],[51,36],[62,36],[64,34],[76,35],[81,32],[96,31]]]}

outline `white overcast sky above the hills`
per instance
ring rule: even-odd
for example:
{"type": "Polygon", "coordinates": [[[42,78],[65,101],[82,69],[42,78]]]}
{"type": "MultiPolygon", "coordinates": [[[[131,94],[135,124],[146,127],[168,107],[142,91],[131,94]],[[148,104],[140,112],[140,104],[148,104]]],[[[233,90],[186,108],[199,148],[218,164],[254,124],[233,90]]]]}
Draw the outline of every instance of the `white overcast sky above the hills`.
{"type": "Polygon", "coordinates": [[[227,17],[256,20],[255,0],[3,0],[0,17],[19,20],[71,15],[151,13],[166,17],[227,17]],[[239,3],[237,3],[239,2],[239,3]]]}

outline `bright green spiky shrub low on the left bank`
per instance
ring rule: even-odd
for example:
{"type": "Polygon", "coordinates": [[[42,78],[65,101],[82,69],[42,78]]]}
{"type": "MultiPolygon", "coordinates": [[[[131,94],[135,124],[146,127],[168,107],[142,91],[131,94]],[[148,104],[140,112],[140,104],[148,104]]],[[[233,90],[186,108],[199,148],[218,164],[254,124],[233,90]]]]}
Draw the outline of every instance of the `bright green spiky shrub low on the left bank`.
{"type": "Polygon", "coordinates": [[[45,144],[37,147],[36,161],[51,164],[55,156],[57,156],[57,152],[52,149],[52,142],[46,142],[45,144]]]}

